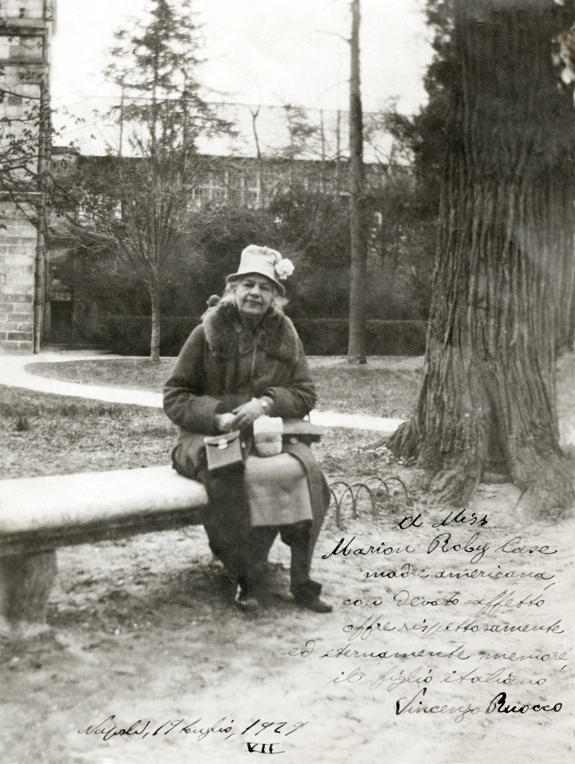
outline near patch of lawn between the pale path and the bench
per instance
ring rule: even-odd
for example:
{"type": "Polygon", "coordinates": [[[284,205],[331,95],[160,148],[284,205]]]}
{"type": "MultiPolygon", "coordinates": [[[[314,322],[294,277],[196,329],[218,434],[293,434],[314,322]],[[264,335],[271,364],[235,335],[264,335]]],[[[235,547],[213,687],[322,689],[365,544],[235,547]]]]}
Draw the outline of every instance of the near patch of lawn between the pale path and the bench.
{"type": "MultiPolygon", "coordinates": [[[[331,477],[389,474],[380,433],[321,429],[313,448],[331,477]]],[[[0,386],[0,479],[166,465],[177,435],[160,409],[0,386]]]]}

